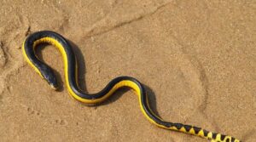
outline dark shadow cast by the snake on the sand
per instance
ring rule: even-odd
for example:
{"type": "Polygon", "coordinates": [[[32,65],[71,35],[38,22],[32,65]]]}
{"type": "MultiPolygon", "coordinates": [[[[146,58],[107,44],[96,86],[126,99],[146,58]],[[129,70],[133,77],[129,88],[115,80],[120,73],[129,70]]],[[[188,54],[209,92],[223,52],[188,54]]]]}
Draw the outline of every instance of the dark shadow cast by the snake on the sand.
{"type": "MultiPolygon", "coordinates": [[[[85,65],[85,61],[84,61],[84,54],[82,54],[80,48],[75,44],[73,43],[72,41],[68,40],[68,43],[71,44],[72,48],[73,48],[73,51],[74,51],[74,54],[76,55],[76,58],[77,58],[77,61],[78,61],[78,65],[79,65],[79,88],[81,88],[82,90],[84,90],[85,93],[88,93],[87,92],[87,88],[86,88],[86,81],[85,81],[85,73],[86,73],[86,65],[85,65]]],[[[44,61],[44,58],[43,58],[43,54],[42,54],[42,50],[44,50],[44,48],[46,48],[46,45],[49,45],[47,43],[43,43],[43,44],[40,44],[38,46],[38,48],[36,49],[36,52],[38,54],[38,58],[40,60],[43,60],[44,61]]],[[[59,88],[57,89],[57,91],[63,91],[64,89],[64,82],[62,81],[61,79],[61,74],[56,71],[54,68],[52,68],[53,71],[55,72],[55,76],[56,76],[56,79],[57,79],[57,82],[58,82],[58,85],[59,85],[59,88]]],[[[148,102],[149,102],[149,107],[150,109],[154,112],[155,115],[159,116],[159,112],[157,111],[157,107],[156,107],[156,97],[155,97],[155,94],[154,94],[154,91],[149,88],[147,85],[143,84],[143,87],[145,88],[146,92],[147,92],[147,95],[148,95],[148,102]]],[[[103,101],[102,103],[99,103],[99,104],[94,104],[94,105],[88,105],[88,104],[84,104],[84,103],[81,103],[79,102],[81,105],[83,105],[84,107],[94,107],[95,109],[100,106],[100,105],[110,105],[112,104],[113,102],[117,101],[122,95],[124,95],[127,91],[131,90],[131,88],[120,88],[119,90],[117,90],[113,95],[111,95],[107,100],[103,101]]],[[[136,95],[135,95],[136,96],[136,95]]]]}

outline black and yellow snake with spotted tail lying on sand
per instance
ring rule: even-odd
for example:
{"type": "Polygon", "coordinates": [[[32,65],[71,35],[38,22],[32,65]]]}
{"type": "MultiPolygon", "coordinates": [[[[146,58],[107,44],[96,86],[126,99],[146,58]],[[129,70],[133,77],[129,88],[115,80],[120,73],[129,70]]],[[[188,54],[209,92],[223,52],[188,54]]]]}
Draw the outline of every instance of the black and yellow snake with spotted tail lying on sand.
{"type": "Polygon", "coordinates": [[[115,77],[98,93],[85,93],[81,88],[79,88],[78,59],[75,56],[71,44],[65,37],[62,37],[55,31],[37,31],[26,37],[26,40],[22,45],[22,53],[26,59],[26,62],[28,62],[28,64],[31,65],[32,68],[38,72],[38,74],[46,82],[48,82],[49,86],[55,90],[58,88],[58,83],[54,70],[40,60],[36,54],[36,48],[42,43],[53,45],[60,50],[64,60],[65,82],[68,93],[74,99],[77,99],[80,102],[86,104],[98,104],[108,99],[108,97],[114,94],[114,92],[119,88],[131,88],[137,94],[138,102],[143,115],[148,119],[149,122],[153,123],[159,128],[189,133],[206,138],[212,142],[241,142],[239,139],[229,135],[213,133],[211,131],[207,131],[206,129],[185,125],[183,123],[164,121],[162,118],[160,118],[160,116],[155,115],[155,113],[149,107],[148,94],[146,93],[143,84],[134,77],[115,77]]]}

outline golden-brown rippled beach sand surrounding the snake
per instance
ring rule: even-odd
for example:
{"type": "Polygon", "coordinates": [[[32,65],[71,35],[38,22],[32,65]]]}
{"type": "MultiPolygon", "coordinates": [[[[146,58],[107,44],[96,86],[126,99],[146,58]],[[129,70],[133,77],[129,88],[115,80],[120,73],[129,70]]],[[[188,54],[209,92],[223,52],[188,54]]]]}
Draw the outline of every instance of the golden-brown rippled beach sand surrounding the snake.
{"type": "Polygon", "coordinates": [[[73,43],[84,90],[136,77],[166,121],[256,141],[255,9],[253,0],[1,0],[0,141],[207,141],[155,127],[129,89],[97,106],[72,99],[51,46],[38,50],[61,85],[49,88],[20,49],[42,30],[73,43]]]}

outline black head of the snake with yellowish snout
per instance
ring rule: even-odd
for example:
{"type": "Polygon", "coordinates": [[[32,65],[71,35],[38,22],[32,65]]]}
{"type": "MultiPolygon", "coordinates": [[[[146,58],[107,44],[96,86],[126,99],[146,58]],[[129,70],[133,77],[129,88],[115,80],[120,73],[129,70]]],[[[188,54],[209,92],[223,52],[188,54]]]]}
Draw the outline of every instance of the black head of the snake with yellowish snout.
{"type": "Polygon", "coordinates": [[[55,77],[54,71],[47,65],[42,65],[40,67],[42,77],[48,82],[50,88],[57,89],[58,83],[55,77]]]}

